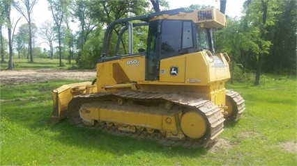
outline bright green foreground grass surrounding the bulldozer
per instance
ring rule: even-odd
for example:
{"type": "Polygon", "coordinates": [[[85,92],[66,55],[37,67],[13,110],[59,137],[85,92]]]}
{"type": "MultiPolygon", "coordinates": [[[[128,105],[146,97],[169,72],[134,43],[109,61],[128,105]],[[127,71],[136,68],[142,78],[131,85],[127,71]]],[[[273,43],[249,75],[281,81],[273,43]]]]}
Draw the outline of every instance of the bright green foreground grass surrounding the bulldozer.
{"type": "Polygon", "coordinates": [[[225,126],[217,151],[164,147],[153,140],[47,124],[50,90],[75,81],[1,85],[0,165],[296,165],[280,144],[296,140],[296,77],[266,76],[265,85],[228,84],[241,92],[246,110],[225,126]],[[274,79],[274,80],[273,80],[274,79]]]}

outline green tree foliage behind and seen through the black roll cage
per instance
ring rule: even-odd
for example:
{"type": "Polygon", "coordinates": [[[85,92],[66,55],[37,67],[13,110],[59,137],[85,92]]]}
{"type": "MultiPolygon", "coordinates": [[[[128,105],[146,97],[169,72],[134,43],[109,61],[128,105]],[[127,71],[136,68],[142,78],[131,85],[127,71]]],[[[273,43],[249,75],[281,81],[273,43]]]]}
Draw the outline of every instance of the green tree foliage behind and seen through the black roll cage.
{"type": "MultiPolygon", "coordinates": [[[[79,1],[81,2],[81,1],[79,1]]],[[[96,59],[100,58],[103,32],[102,25],[108,25],[116,19],[121,19],[125,17],[132,17],[135,15],[143,15],[146,13],[146,8],[148,2],[141,1],[85,1],[86,5],[83,6],[81,3],[77,3],[77,6],[82,6],[85,8],[85,13],[79,8],[76,9],[76,17],[79,18],[82,28],[84,27],[84,32],[79,34],[79,40],[84,40],[82,43],[82,49],[78,53],[77,64],[82,68],[91,68],[96,66],[96,59]],[[88,15],[89,19],[82,17],[83,15],[88,15]],[[96,26],[96,29],[91,32],[91,29],[87,29],[86,25],[91,25],[93,22],[100,22],[100,26],[96,26]],[[84,23],[84,24],[83,24],[84,23]],[[86,40],[87,38],[87,40],[86,40]]],[[[121,31],[121,26],[114,27],[113,33],[110,35],[108,43],[107,56],[114,56],[116,41],[118,40],[119,32],[121,31]]],[[[142,31],[143,28],[135,28],[134,36],[134,49],[135,52],[139,48],[146,47],[146,33],[142,31]]],[[[128,53],[128,35],[124,34],[121,40],[121,46],[119,49],[120,55],[128,53]]]]}

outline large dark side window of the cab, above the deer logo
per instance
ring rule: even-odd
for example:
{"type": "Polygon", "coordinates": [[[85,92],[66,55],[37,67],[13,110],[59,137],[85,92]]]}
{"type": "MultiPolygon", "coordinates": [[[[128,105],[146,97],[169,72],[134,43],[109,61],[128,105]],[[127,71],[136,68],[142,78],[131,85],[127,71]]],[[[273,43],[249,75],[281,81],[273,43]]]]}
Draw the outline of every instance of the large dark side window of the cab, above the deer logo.
{"type": "MultiPolygon", "coordinates": [[[[164,20],[162,24],[161,54],[178,54],[181,50],[181,21],[164,20]]],[[[172,55],[172,56],[173,56],[172,55]]]]}

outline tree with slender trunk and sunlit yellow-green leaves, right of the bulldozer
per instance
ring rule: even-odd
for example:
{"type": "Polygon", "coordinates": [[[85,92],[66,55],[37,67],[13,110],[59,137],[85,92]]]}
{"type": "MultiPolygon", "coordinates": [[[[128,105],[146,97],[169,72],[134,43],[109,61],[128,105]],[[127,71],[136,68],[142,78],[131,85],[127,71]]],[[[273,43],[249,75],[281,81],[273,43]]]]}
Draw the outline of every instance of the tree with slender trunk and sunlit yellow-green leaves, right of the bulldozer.
{"type": "Polygon", "coordinates": [[[275,6],[277,6],[275,0],[248,0],[243,5],[245,15],[241,22],[243,22],[243,27],[252,29],[252,41],[256,45],[252,50],[257,60],[254,85],[259,85],[263,59],[270,53],[271,41],[268,38],[270,35],[268,28],[275,24],[275,13],[277,13],[275,6]],[[268,5],[268,2],[270,5],[268,5]]]}

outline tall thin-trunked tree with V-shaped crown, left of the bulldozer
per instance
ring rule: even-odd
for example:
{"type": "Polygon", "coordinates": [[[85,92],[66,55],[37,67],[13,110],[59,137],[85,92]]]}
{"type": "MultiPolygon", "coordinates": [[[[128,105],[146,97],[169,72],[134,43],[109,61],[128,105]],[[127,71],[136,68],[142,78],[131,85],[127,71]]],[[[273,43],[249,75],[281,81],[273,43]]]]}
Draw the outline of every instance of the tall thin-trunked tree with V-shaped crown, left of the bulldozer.
{"type": "Polygon", "coordinates": [[[57,31],[58,42],[59,42],[59,66],[62,67],[61,28],[66,15],[68,15],[68,6],[70,4],[70,1],[69,0],[47,0],[47,2],[50,5],[52,17],[56,25],[56,31],[57,31]]]}

